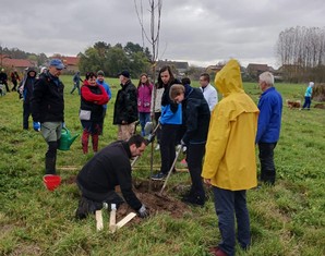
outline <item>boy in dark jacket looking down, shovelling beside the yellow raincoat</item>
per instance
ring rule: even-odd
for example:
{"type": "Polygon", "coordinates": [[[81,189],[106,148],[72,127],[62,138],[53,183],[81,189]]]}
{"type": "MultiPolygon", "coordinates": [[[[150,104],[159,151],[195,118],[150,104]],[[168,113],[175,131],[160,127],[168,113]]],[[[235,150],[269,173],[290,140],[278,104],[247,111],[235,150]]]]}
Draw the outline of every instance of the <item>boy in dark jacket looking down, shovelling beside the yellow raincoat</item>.
{"type": "Polygon", "coordinates": [[[181,144],[186,146],[188,167],[191,174],[192,186],[182,198],[184,203],[203,206],[205,203],[205,192],[202,183],[202,161],[205,153],[205,143],[208,132],[210,111],[200,88],[190,86],[183,78],[183,85],[174,84],[170,87],[170,99],[177,103],[183,103],[185,113],[185,133],[181,144]]]}

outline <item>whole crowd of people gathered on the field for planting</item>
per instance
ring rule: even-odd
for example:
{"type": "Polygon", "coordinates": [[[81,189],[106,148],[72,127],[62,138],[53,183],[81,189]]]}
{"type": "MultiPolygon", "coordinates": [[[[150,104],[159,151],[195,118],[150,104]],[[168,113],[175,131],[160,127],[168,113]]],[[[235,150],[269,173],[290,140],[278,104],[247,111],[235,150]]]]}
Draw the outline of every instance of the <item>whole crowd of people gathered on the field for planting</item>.
{"type": "MultiPolygon", "coordinates": [[[[17,89],[23,99],[23,129],[28,130],[32,114],[34,130],[40,132],[47,143],[45,174],[57,174],[57,150],[65,126],[64,85],[60,80],[63,69],[62,61],[53,59],[39,74],[29,68],[22,80],[16,72],[11,75],[12,90],[17,89]]],[[[110,86],[101,70],[87,72],[84,80],[80,72],[73,76],[70,93],[77,89],[81,98],[82,151],[88,154],[89,137],[94,151],[77,175],[81,199],[76,217],[85,218],[101,209],[105,203],[119,206],[124,200],[139,216],[149,215],[132,191],[130,159],[144,153],[149,143],[145,139],[145,125],[155,120],[156,149],[160,150],[161,166],[151,179],[162,181],[170,171],[174,172],[177,146],[185,148],[192,184],[182,195],[182,202],[204,206],[204,183],[214,193],[221,242],[212,248],[212,253],[233,255],[236,239],[246,249],[251,244],[246,191],[257,186],[256,145],[261,183],[276,183],[274,149],[280,134],[282,98],[274,87],[273,74],[264,72],[258,77],[262,95],[257,106],[244,92],[236,60],[230,60],[217,73],[216,88],[207,73],[201,74],[200,87],[195,88],[190,78],[176,78],[168,65],[159,70],[156,84],[151,83],[145,73],[139,77],[137,86],[132,83],[128,70],[118,76],[121,87],[115,98],[112,117],[118,139],[101,150],[98,139],[103,134],[107,105],[112,98],[110,86]],[[218,93],[222,96],[219,102],[218,93]],[[137,121],[141,134],[135,133],[137,121]],[[120,185],[123,198],[116,193],[116,185],[120,185]]],[[[4,75],[0,77],[3,83],[4,75]]],[[[308,109],[313,85],[311,83],[305,93],[304,107],[308,109]]]]}

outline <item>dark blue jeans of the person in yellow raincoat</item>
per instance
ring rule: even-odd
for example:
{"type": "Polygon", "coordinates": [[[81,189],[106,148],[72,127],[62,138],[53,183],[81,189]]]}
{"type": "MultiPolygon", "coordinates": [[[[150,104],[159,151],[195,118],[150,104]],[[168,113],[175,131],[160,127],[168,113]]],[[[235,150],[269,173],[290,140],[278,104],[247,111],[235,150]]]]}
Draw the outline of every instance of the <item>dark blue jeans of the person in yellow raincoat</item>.
{"type": "Polygon", "coordinates": [[[227,255],[234,255],[236,246],[236,225],[237,219],[237,240],[243,249],[251,244],[250,216],[246,207],[246,191],[228,191],[213,186],[215,196],[215,209],[218,216],[221,242],[219,247],[227,255]]]}

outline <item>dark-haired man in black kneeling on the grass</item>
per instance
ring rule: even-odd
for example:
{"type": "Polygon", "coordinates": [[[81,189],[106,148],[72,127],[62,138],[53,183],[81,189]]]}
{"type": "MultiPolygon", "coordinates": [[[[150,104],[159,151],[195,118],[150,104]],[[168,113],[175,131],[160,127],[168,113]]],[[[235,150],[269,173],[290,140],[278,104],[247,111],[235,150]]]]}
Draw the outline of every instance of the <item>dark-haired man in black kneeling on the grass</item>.
{"type": "Polygon", "coordinates": [[[88,214],[101,209],[103,204],[116,204],[124,200],[115,192],[120,185],[125,202],[145,218],[148,211],[132,191],[130,159],[141,156],[147,141],[141,135],[133,135],[128,142],[113,142],[97,153],[80,171],[76,183],[82,198],[76,210],[76,218],[86,218],[88,214]]]}

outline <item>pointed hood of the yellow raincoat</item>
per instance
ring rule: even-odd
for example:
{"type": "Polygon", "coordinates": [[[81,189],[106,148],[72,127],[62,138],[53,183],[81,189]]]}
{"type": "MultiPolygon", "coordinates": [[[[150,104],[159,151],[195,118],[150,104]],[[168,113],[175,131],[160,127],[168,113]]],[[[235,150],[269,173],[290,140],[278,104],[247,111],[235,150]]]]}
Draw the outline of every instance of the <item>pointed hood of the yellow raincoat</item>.
{"type": "Polygon", "coordinates": [[[217,73],[215,85],[224,97],[231,93],[244,93],[240,66],[237,60],[230,60],[220,72],[217,73]]]}

